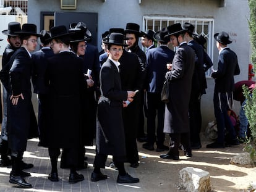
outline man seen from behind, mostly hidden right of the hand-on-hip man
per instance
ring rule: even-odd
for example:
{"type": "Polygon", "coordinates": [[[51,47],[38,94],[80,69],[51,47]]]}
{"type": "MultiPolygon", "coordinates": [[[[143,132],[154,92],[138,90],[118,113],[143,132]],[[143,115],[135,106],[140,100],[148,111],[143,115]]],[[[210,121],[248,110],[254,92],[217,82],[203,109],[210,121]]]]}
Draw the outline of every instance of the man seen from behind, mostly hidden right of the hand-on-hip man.
{"type": "Polygon", "coordinates": [[[45,133],[45,121],[46,121],[46,112],[48,105],[48,94],[49,89],[45,86],[45,70],[47,67],[46,59],[51,56],[54,56],[53,50],[51,49],[50,41],[51,38],[49,35],[49,31],[42,30],[40,32],[42,35],[40,37],[42,48],[40,51],[36,51],[32,54],[33,59],[33,73],[32,73],[32,83],[34,88],[34,93],[38,94],[38,130],[39,130],[39,143],[41,146],[41,142],[43,142],[44,138],[42,138],[45,133]]]}

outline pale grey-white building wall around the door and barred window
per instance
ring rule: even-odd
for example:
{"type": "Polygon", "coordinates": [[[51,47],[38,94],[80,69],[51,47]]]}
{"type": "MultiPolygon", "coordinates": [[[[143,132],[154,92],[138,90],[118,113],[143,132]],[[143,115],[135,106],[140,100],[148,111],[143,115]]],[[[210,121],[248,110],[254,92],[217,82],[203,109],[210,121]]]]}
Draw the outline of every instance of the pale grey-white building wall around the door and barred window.
{"type": "MultiPolygon", "coordinates": [[[[220,7],[221,0],[77,0],[76,10],[61,10],[59,0],[28,1],[28,22],[40,27],[41,11],[75,11],[98,13],[98,48],[100,49],[101,33],[109,28],[125,28],[127,22],[138,23],[142,28],[142,17],[145,15],[165,15],[169,17],[198,17],[214,19],[214,31],[226,31],[233,43],[230,48],[237,53],[241,75],[235,81],[247,80],[250,63],[249,7],[247,0],[225,0],[226,6],[220,7]]],[[[213,42],[214,67],[218,65],[218,50],[213,42]]],[[[214,80],[208,79],[207,94],[202,96],[203,128],[215,119],[213,114],[214,80]]],[[[236,102],[235,111],[240,106],[236,102]]]]}

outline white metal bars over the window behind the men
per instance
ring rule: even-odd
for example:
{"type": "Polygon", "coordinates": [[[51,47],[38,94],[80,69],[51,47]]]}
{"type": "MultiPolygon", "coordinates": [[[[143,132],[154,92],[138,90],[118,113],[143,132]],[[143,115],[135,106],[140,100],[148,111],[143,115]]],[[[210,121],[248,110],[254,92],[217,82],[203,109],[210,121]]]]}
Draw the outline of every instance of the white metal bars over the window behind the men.
{"type": "MultiPolygon", "coordinates": [[[[143,17],[143,31],[148,29],[159,31],[161,28],[173,25],[174,23],[184,23],[189,22],[195,26],[194,33],[197,35],[203,35],[207,39],[205,44],[206,51],[213,60],[213,31],[214,31],[214,20],[213,19],[204,19],[204,18],[184,18],[184,17],[161,17],[161,16],[144,16],[143,17]]],[[[172,48],[172,47],[171,47],[172,48]]],[[[175,49],[175,48],[172,48],[175,49]]],[[[206,72],[207,75],[210,75],[211,69],[206,72]]]]}

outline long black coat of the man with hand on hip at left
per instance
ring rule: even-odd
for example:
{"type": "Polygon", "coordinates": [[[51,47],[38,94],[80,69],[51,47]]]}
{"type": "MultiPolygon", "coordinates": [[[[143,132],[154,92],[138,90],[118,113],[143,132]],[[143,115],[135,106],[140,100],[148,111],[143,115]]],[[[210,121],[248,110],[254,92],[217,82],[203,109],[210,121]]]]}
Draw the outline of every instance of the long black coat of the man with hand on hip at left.
{"type": "MultiPolygon", "coordinates": [[[[10,104],[10,123],[8,127],[9,148],[12,151],[25,151],[28,138],[38,136],[35,112],[31,102],[32,59],[23,47],[10,59],[10,84],[12,94],[23,94],[16,106],[10,104]],[[31,135],[32,134],[32,135],[31,135]]],[[[11,101],[9,101],[11,102],[11,101]]]]}

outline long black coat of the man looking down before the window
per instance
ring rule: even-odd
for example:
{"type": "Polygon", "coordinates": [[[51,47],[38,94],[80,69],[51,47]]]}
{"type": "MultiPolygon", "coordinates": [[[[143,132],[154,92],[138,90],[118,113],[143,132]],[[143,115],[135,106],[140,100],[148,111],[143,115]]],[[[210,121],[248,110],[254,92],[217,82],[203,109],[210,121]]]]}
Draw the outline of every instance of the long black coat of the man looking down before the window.
{"type": "Polygon", "coordinates": [[[169,103],[164,114],[164,133],[189,132],[189,99],[194,73],[195,52],[187,43],[177,49],[171,72],[167,72],[169,103]]]}

